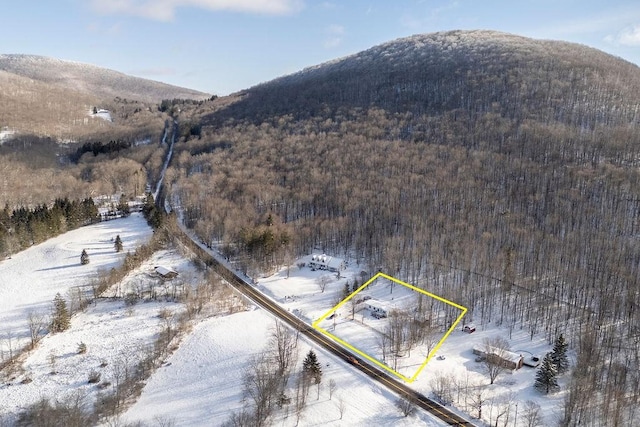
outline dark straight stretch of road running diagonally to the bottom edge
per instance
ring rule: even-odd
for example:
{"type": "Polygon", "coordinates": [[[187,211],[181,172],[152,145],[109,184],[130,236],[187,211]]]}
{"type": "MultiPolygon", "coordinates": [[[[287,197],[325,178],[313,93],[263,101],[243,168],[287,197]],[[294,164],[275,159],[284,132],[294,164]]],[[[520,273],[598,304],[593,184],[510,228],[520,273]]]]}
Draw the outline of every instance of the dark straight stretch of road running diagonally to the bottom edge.
{"type": "Polygon", "coordinates": [[[474,426],[470,421],[440,405],[433,399],[413,390],[411,387],[387,375],[385,372],[364,363],[361,359],[355,357],[351,352],[340,346],[338,343],[316,331],[313,327],[282,308],[279,304],[272,301],[252,285],[245,282],[236,272],[218,262],[218,260],[207,252],[204,247],[193,241],[192,238],[188,234],[184,233],[180,227],[176,228],[181,230],[181,235],[178,237],[183,244],[188,246],[198,256],[198,258],[207,265],[208,268],[222,276],[231,286],[236,288],[255,304],[271,312],[274,316],[278,317],[283,322],[286,322],[291,327],[299,330],[317,345],[342,358],[346,362],[350,363],[354,368],[359,369],[364,374],[383,384],[398,395],[410,400],[416,406],[424,409],[432,415],[435,415],[447,424],[453,426],[474,426]]]}

